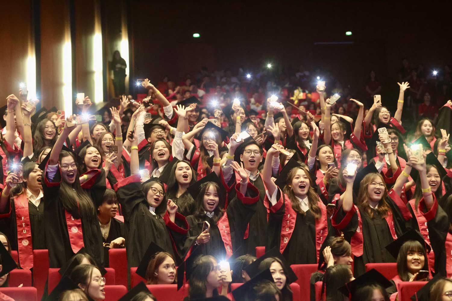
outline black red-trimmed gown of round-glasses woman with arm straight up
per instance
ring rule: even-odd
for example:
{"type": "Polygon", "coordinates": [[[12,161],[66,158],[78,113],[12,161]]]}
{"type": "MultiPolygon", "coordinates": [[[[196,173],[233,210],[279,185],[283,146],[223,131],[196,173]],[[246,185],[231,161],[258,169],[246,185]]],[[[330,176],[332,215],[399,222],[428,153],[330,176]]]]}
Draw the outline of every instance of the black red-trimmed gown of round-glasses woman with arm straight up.
{"type": "Polygon", "coordinates": [[[120,181],[116,194],[124,214],[129,267],[137,267],[140,264],[151,242],[170,253],[175,261],[179,261],[179,254],[173,249],[173,240],[179,241],[185,238],[188,230],[185,218],[176,213],[176,218],[182,219],[186,225],[185,228],[180,228],[170,222],[167,213],[164,218],[158,214],[152,214],[149,211],[146,196],[141,191],[139,175],[120,181]]]}

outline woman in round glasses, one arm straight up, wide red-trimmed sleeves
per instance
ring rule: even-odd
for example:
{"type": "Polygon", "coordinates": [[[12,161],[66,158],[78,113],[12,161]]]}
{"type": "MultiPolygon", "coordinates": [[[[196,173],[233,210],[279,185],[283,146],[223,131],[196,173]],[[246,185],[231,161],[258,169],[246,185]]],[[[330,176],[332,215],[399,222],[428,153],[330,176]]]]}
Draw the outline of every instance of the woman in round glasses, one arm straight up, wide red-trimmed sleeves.
{"type": "Polygon", "coordinates": [[[177,212],[178,206],[170,199],[166,199],[163,184],[148,181],[141,185],[137,134],[131,135],[129,131],[127,138],[132,145],[130,161],[132,176],[119,181],[116,186],[128,233],[127,262],[131,267],[138,266],[151,241],[158,243],[177,260],[179,255],[173,249],[170,236],[176,241],[179,236],[185,237],[188,224],[184,216],[177,212]],[[184,225],[184,228],[174,223],[176,219],[184,225]]]}

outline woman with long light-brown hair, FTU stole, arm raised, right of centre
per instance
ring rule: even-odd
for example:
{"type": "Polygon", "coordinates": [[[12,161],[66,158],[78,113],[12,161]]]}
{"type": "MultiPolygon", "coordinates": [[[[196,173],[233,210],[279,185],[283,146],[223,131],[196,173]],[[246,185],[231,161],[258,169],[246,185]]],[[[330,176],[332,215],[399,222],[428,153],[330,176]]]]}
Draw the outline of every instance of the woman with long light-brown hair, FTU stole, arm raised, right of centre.
{"type": "MultiPolygon", "coordinates": [[[[270,157],[278,156],[275,148],[282,148],[273,146],[268,150],[270,157]]],[[[266,160],[263,179],[267,187],[264,202],[271,204],[267,246],[278,246],[290,264],[317,263],[328,225],[326,207],[315,193],[308,168],[292,158],[278,177],[282,180],[275,183],[271,180],[270,161],[266,160]]]]}

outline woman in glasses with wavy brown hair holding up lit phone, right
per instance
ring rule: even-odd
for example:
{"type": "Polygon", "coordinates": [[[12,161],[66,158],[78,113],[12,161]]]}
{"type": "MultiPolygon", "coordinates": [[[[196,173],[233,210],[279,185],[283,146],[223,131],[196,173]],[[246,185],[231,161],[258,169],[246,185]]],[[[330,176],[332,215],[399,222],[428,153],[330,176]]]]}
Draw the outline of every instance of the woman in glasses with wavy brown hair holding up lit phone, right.
{"type": "Polygon", "coordinates": [[[336,202],[337,211],[331,218],[332,225],[344,233],[344,238],[352,245],[354,257],[354,275],[362,275],[365,264],[394,262],[395,258],[386,251],[389,245],[403,233],[405,220],[387,197],[388,192],[381,174],[367,173],[359,181],[359,193],[356,205],[353,204],[353,181],[356,171],[345,168],[346,190],[336,202]]]}

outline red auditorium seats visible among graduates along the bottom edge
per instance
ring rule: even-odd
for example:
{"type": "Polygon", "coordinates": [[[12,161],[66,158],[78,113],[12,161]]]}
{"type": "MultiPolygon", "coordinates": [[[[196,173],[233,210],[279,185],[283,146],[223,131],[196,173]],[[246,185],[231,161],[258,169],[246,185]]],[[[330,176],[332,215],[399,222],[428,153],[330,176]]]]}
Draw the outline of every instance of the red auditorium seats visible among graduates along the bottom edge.
{"type": "MultiPolygon", "coordinates": [[[[260,257],[264,255],[265,248],[257,247],[256,248],[256,256],[260,257]]],[[[12,252],[13,258],[17,257],[17,252],[12,252]]],[[[17,260],[17,258],[14,258],[17,260]]],[[[57,283],[61,279],[61,275],[58,273],[58,269],[49,269],[48,263],[48,253],[47,250],[33,250],[33,262],[34,262],[34,273],[33,273],[33,286],[36,288],[37,298],[41,299],[42,293],[44,291],[44,286],[46,280],[48,279],[48,287],[49,292],[52,291],[54,287],[56,287],[57,283]]],[[[105,274],[106,278],[106,287],[108,290],[122,290],[122,288],[127,287],[127,255],[125,249],[110,249],[109,250],[109,262],[110,268],[107,268],[107,273],[105,274]]],[[[311,274],[317,270],[317,264],[292,264],[291,268],[294,273],[297,275],[298,280],[292,284],[292,290],[294,292],[294,300],[301,300],[300,292],[304,292],[304,296],[306,296],[306,292],[310,294],[310,278],[311,274]]],[[[382,273],[386,278],[391,279],[395,275],[397,275],[397,266],[395,263],[386,263],[386,264],[366,264],[366,270],[376,269],[380,273],[382,273]]],[[[145,279],[141,278],[137,273],[135,273],[137,268],[130,269],[130,284],[131,287],[135,287],[139,282],[146,282],[145,279]]],[[[9,289],[19,289],[15,288],[22,284],[24,289],[31,288],[32,286],[32,275],[30,270],[13,270],[10,272],[9,276],[9,289]]],[[[407,292],[413,292],[410,296],[414,294],[420,287],[422,287],[424,282],[412,282],[412,284],[406,283],[404,289],[406,287],[407,292]],[[414,284],[413,284],[414,283],[414,284]],[[417,289],[416,289],[417,288],[417,289]]],[[[239,284],[232,284],[232,288],[235,288],[239,284]]],[[[162,296],[167,295],[169,292],[165,292],[165,290],[173,290],[173,287],[170,286],[150,286],[152,287],[157,294],[162,296]]],[[[175,286],[174,286],[175,287],[175,286]]],[[[316,295],[317,291],[319,292],[317,300],[320,300],[320,288],[321,282],[316,283],[316,295]]],[[[24,290],[24,292],[30,293],[32,290],[24,290]]],[[[171,291],[171,295],[174,295],[177,292],[177,288],[175,291],[171,291]]],[[[407,296],[408,293],[405,295],[407,296]]],[[[119,292],[115,292],[114,296],[122,296],[119,292]]],[[[410,298],[408,296],[408,298],[410,298]]],[[[20,300],[20,299],[19,299],[20,300]]],[[[23,299],[23,300],[33,300],[31,299],[23,299]]],[[[105,300],[113,300],[113,299],[105,299],[105,300]]],[[[174,299],[176,300],[176,299],[174,299]]],[[[309,298],[308,298],[309,300],[309,298]]],[[[400,299],[399,300],[403,300],[400,299]]],[[[408,299],[407,299],[408,300],[408,299]]]]}

